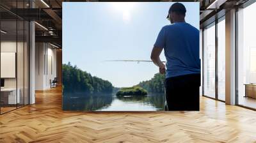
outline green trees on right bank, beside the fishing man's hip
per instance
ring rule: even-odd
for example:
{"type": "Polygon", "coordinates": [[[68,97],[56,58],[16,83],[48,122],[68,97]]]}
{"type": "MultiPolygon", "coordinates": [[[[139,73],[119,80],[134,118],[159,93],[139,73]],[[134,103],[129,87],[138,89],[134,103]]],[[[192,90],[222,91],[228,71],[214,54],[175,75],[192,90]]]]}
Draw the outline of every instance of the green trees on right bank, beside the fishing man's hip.
{"type": "Polygon", "coordinates": [[[164,93],[164,79],[164,75],[156,73],[152,79],[140,82],[138,86],[150,93],[164,93]]]}

